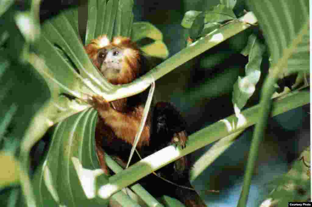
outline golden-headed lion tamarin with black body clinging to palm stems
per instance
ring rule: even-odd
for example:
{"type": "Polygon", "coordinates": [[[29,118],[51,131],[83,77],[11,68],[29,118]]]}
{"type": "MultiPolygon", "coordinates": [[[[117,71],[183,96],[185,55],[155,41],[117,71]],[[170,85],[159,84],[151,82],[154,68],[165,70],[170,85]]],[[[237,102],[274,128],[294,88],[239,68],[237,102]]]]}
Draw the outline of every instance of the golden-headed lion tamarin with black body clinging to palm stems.
{"type": "MultiPolygon", "coordinates": [[[[100,73],[112,84],[130,83],[149,70],[146,58],[129,38],[114,37],[109,41],[103,35],[86,45],[85,51],[100,73]]],[[[106,174],[110,171],[105,164],[104,152],[115,157],[124,166],[127,163],[146,98],[147,94],[144,92],[110,103],[101,97],[93,97],[93,107],[99,114],[95,130],[97,154],[106,174]]],[[[186,122],[171,103],[152,104],[136,148],[145,157],[173,143],[184,147],[187,141],[185,129],[186,122]]],[[[139,161],[139,157],[134,154],[132,163],[136,161],[139,161]]],[[[178,185],[191,187],[189,169],[189,158],[184,156],[156,173],[178,185]]],[[[157,176],[149,175],[139,183],[152,195],[169,195],[188,207],[206,206],[195,191],[177,187],[157,176]]]]}

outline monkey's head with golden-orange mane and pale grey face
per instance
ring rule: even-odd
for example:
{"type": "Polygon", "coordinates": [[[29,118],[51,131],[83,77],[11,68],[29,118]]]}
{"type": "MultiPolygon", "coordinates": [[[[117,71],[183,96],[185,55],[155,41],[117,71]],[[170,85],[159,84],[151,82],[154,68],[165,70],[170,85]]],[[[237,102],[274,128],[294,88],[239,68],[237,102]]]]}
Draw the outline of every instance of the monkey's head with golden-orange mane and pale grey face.
{"type": "Polygon", "coordinates": [[[85,46],[93,64],[111,84],[127,84],[139,76],[141,55],[126,37],[100,36],[85,46]]]}

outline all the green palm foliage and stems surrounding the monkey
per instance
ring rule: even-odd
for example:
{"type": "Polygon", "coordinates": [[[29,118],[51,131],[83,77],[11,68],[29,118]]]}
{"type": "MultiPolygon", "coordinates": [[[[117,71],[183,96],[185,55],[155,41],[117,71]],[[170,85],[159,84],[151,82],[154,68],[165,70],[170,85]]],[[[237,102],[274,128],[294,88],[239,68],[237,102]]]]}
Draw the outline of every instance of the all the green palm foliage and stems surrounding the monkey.
{"type": "MultiPolygon", "coordinates": [[[[119,205],[137,206],[134,200],[120,191],[122,188],[222,138],[195,163],[190,175],[192,181],[232,145],[244,129],[259,121],[239,200],[239,206],[246,205],[259,143],[269,114],[275,116],[310,101],[309,91],[297,89],[302,84],[306,86],[304,80],[310,65],[307,1],[250,2],[251,11],[257,18],[244,10],[247,8],[238,11],[236,0],[220,0],[220,4],[203,11],[188,11],[181,23],[189,32],[186,48],[134,83],[118,86],[102,78],[85,54],[82,43],[88,44],[100,34],[107,34],[109,38],[129,36],[147,55],[161,59],[169,55],[159,29],[148,22],[133,22],[134,2],[89,0],[83,40],[79,36],[78,8],[61,12],[40,25],[39,4],[40,1],[27,1],[21,10],[14,1],[0,3],[0,159],[2,163],[10,163],[6,165],[7,171],[1,172],[1,188],[9,189],[2,190],[3,203],[7,206],[16,206],[17,201],[22,206],[105,206],[112,195],[111,198],[119,205]],[[302,15],[298,17],[296,13],[302,15]],[[117,174],[106,177],[98,169],[95,154],[97,114],[83,101],[85,94],[98,94],[109,101],[137,94],[149,87],[153,80],[240,32],[249,37],[242,50],[232,48],[232,51],[248,55],[248,63],[245,74],[236,75],[236,83],[230,85],[235,115],[190,135],[185,149],[166,147],[126,170],[120,169],[108,157],[110,168],[117,174]],[[149,41],[141,44],[144,40],[149,41]],[[270,69],[265,83],[260,85],[260,79],[268,70],[261,66],[267,53],[270,54],[270,69]],[[277,80],[293,73],[299,73],[292,88],[297,90],[278,94],[279,99],[272,101],[277,80]],[[256,89],[261,87],[261,103],[241,111],[246,103],[251,102],[256,89]],[[30,150],[46,130],[56,124],[49,151],[44,162],[37,167],[31,183],[28,170],[30,150]],[[16,187],[19,185],[22,193],[16,187]]],[[[213,84],[206,81],[183,96],[201,99],[207,96],[208,87],[228,84],[224,77],[215,76],[213,84]]],[[[220,95],[224,90],[225,87],[220,87],[216,94],[220,95]]],[[[287,179],[295,180],[296,177],[287,179]]],[[[310,190],[309,185],[306,187],[310,190]]],[[[147,205],[162,206],[140,185],[133,185],[131,190],[147,205]]],[[[163,197],[163,202],[169,206],[177,204],[168,197],[163,197]]]]}

